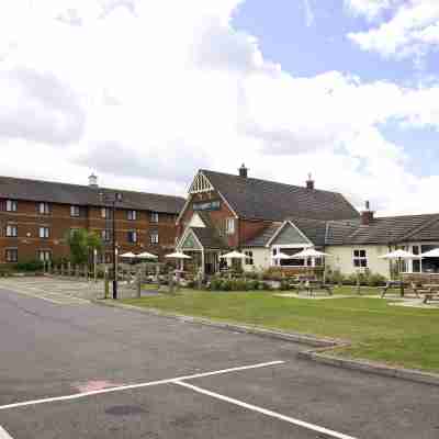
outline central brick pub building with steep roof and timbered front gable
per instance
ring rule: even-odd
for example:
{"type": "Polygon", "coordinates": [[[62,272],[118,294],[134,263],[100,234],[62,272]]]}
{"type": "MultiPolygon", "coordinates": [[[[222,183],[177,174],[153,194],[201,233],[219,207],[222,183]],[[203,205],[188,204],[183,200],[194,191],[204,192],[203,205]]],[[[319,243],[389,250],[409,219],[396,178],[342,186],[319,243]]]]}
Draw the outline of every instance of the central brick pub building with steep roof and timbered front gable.
{"type": "Polygon", "coordinates": [[[290,217],[326,222],[358,218],[359,213],[341,194],[315,189],[311,178],[302,188],[250,178],[244,165],[236,176],[200,170],[177,222],[177,248],[205,272],[216,272],[222,252],[246,251],[248,243],[290,217]]]}

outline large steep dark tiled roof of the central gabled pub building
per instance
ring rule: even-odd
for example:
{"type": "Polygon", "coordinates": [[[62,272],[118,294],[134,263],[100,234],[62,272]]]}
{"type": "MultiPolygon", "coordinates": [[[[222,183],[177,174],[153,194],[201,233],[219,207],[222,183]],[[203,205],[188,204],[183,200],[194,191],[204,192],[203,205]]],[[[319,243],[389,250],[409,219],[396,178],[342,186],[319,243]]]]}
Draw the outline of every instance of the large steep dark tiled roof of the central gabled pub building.
{"type": "Polygon", "coordinates": [[[348,219],[359,216],[340,193],[210,170],[201,172],[243,218],[284,221],[289,216],[295,216],[348,219]]]}

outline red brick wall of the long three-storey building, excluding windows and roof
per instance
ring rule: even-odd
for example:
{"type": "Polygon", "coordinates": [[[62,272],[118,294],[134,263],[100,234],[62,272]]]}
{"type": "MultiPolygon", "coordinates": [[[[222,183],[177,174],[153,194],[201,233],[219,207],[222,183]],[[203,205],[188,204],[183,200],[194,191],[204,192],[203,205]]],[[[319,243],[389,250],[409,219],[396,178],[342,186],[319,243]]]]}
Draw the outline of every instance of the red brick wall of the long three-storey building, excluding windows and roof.
{"type": "MultiPolygon", "coordinates": [[[[5,262],[5,249],[18,248],[19,261],[35,260],[38,250],[50,250],[54,259],[69,256],[68,246],[64,238],[70,228],[88,228],[101,234],[102,229],[112,228],[110,219],[101,217],[100,207],[81,207],[82,217],[70,216],[69,204],[49,203],[50,214],[41,215],[37,211],[37,203],[19,201],[18,212],[5,212],[4,200],[0,200],[0,263],[5,262]],[[16,238],[5,236],[8,224],[18,226],[16,238]],[[41,226],[49,227],[49,237],[40,238],[41,226]]],[[[159,213],[159,222],[150,222],[149,211],[137,211],[137,219],[127,219],[127,210],[116,211],[116,240],[120,251],[149,251],[162,256],[175,248],[177,236],[177,215],[159,213]],[[137,230],[137,243],[131,244],[127,240],[128,230],[137,230]],[[159,244],[150,244],[150,234],[158,232],[159,244]]],[[[105,246],[111,250],[110,244],[105,246]]]]}

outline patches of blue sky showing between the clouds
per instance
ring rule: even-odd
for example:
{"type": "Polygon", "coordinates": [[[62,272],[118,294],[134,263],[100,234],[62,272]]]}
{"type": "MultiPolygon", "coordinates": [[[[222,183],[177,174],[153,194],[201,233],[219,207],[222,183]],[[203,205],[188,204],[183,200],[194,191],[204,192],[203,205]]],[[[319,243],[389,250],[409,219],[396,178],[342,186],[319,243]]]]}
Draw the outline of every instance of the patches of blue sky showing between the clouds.
{"type": "MultiPolygon", "coordinates": [[[[384,11],[382,21],[391,18],[392,13],[384,11]]],[[[364,82],[390,81],[401,87],[437,82],[438,53],[427,53],[418,66],[409,57],[384,58],[378,53],[361,50],[347,37],[350,32],[367,32],[372,25],[365,16],[350,14],[341,0],[308,0],[307,3],[305,0],[247,0],[233,16],[234,27],[258,38],[266,58],[280,63],[295,77],[337,70],[364,82]]],[[[437,173],[437,127],[402,127],[389,122],[380,131],[386,139],[404,148],[415,175],[437,173]]]]}

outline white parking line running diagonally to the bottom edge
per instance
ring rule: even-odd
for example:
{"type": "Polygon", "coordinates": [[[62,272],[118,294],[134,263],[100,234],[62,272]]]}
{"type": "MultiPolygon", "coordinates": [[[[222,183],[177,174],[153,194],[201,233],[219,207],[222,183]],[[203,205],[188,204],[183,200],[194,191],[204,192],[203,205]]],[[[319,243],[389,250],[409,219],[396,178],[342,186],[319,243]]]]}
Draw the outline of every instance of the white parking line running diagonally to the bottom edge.
{"type": "Polygon", "coordinates": [[[303,427],[303,428],[306,428],[308,430],[313,430],[313,431],[316,431],[316,432],[319,432],[319,434],[323,434],[323,435],[330,436],[331,438],[336,438],[336,439],[356,439],[352,436],[347,436],[347,435],[344,435],[341,432],[329,430],[329,429],[327,429],[325,427],[319,427],[319,426],[316,426],[314,424],[305,423],[305,421],[300,420],[300,419],[294,419],[294,418],[292,418],[290,416],[284,416],[284,415],[281,415],[280,413],[268,410],[267,408],[262,408],[262,407],[258,407],[256,405],[247,404],[247,403],[244,403],[243,401],[234,399],[234,398],[230,398],[228,396],[221,395],[219,393],[210,392],[210,391],[206,391],[204,389],[198,387],[198,386],[189,384],[189,383],[184,383],[184,382],[179,381],[179,380],[175,381],[173,384],[181,385],[183,387],[192,390],[193,392],[198,392],[198,393],[201,393],[203,395],[207,395],[207,396],[211,396],[213,398],[221,399],[221,401],[224,401],[226,403],[234,404],[234,405],[237,405],[239,407],[247,408],[249,410],[261,413],[262,415],[267,415],[267,416],[270,416],[272,418],[277,418],[277,419],[290,423],[290,424],[294,424],[294,425],[296,425],[299,427],[303,427]]]}

